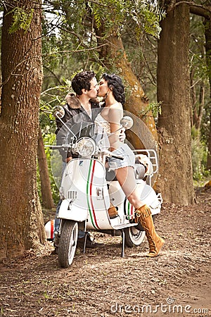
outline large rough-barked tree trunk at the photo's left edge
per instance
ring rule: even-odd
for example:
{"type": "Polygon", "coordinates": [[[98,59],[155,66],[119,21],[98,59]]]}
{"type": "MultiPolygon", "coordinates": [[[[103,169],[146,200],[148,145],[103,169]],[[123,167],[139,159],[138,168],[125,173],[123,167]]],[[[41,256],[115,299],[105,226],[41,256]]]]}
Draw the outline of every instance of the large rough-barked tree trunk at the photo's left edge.
{"type": "MultiPolygon", "coordinates": [[[[11,1],[13,2],[13,1],[11,1]]],[[[22,254],[45,241],[37,195],[36,158],[41,92],[41,0],[18,1],[34,7],[30,28],[8,33],[13,15],[4,8],[1,44],[0,258],[22,254]]]]}

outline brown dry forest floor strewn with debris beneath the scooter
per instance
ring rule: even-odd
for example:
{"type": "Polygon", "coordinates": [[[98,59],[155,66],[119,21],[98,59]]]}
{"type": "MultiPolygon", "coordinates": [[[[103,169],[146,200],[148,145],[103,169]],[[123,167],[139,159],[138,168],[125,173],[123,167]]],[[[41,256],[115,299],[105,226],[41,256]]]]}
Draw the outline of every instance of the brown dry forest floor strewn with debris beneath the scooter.
{"type": "Polygon", "coordinates": [[[158,258],[146,258],[146,241],[121,258],[121,237],[96,234],[106,247],[77,250],[67,269],[50,242],[39,254],[1,262],[0,316],[211,316],[211,189],[196,197],[194,206],[163,204],[158,258]]]}

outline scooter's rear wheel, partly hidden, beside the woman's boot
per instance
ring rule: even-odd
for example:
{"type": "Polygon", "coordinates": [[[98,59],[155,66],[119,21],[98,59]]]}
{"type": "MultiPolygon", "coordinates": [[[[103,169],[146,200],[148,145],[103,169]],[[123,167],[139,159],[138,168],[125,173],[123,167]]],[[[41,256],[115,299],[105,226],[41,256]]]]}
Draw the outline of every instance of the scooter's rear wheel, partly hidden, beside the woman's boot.
{"type": "Polygon", "coordinates": [[[136,226],[125,228],[124,237],[127,247],[137,247],[143,242],[145,231],[139,230],[139,228],[136,228],[136,226]]]}

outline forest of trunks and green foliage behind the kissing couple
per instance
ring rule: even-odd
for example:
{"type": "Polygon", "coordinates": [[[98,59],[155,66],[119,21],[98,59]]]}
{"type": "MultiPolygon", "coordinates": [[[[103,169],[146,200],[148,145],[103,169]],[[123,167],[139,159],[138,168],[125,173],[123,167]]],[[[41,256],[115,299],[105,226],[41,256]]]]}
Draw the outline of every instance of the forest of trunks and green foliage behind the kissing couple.
{"type": "Polygon", "coordinates": [[[209,179],[211,169],[210,7],[210,1],[1,1],[0,258],[45,241],[39,202],[51,209],[58,201],[44,151],[56,130],[48,112],[65,103],[79,70],[123,77],[125,110],[148,127],[128,139],[158,151],[156,189],[164,201],[194,204],[194,182],[209,179]]]}

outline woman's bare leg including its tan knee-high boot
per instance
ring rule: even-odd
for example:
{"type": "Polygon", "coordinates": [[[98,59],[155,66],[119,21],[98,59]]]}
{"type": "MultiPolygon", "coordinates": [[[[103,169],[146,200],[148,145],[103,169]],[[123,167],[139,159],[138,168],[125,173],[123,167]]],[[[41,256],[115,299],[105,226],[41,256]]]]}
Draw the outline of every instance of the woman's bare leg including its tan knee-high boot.
{"type": "Polygon", "coordinates": [[[155,232],[151,210],[146,204],[139,199],[139,189],[136,187],[136,179],[134,176],[134,168],[131,166],[118,168],[115,170],[116,177],[124,194],[129,202],[136,209],[136,219],[141,223],[146,232],[146,237],[149,245],[149,253],[147,256],[158,256],[164,240],[155,232]]]}

